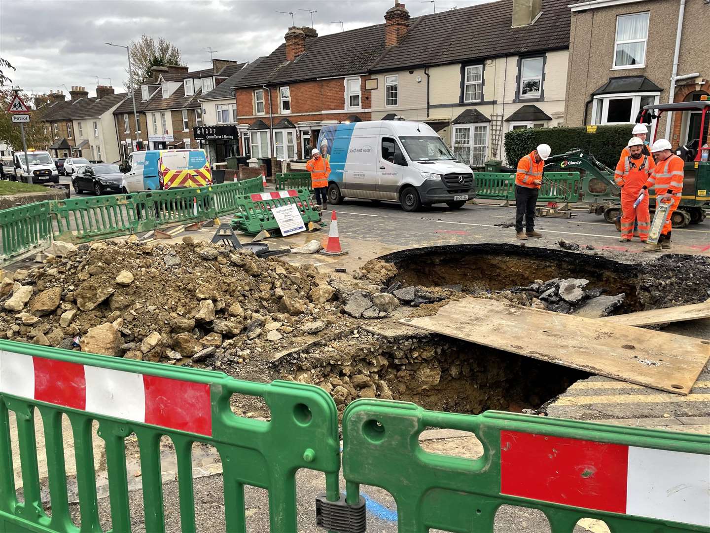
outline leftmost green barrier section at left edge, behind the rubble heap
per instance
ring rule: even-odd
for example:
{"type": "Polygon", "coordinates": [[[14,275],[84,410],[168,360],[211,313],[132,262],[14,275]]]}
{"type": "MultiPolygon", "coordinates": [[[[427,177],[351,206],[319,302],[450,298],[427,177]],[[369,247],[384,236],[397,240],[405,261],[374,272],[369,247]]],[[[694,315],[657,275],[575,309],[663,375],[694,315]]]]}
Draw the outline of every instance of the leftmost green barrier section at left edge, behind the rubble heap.
{"type": "Polygon", "coordinates": [[[49,244],[50,202],[21,205],[0,211],[0,240],[3,259],[13,259],[49,244]]]}

